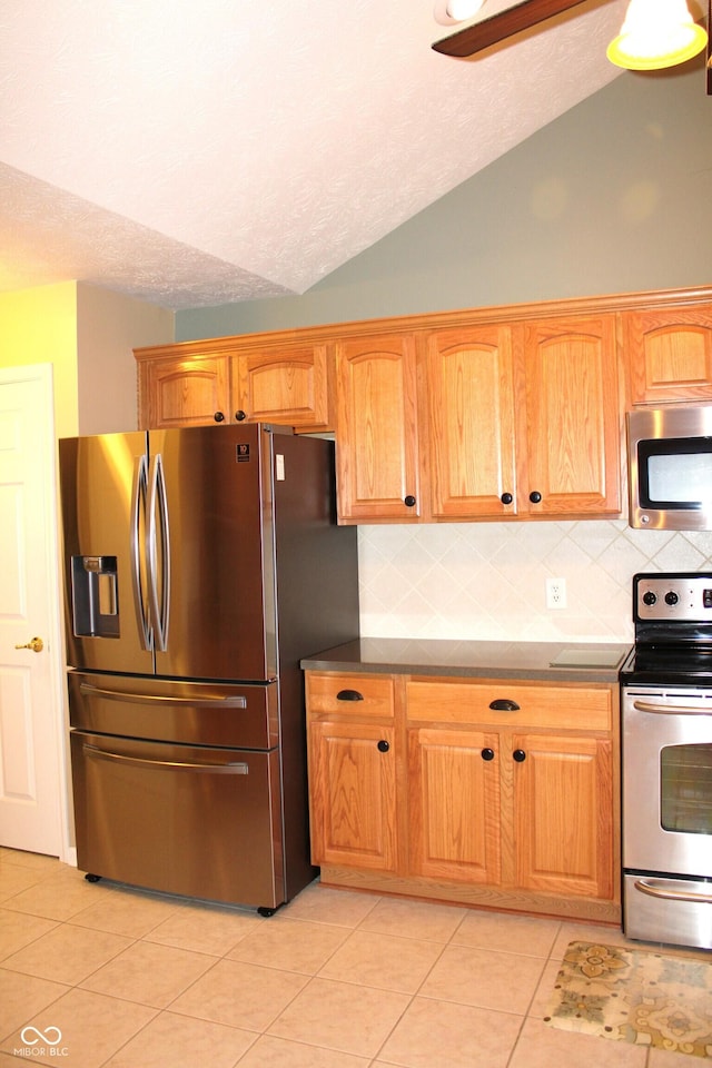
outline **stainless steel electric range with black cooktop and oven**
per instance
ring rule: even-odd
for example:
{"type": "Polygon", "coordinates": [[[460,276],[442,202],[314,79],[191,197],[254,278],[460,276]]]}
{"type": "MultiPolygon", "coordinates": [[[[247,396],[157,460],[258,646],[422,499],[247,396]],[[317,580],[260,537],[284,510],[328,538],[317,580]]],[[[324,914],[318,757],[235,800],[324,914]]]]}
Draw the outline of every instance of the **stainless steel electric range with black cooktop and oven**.
{"type": "Polygon", "coordinates": [[[623,927],[712,948],[712,573],[637,574],[621,669],[623,927]]]}

